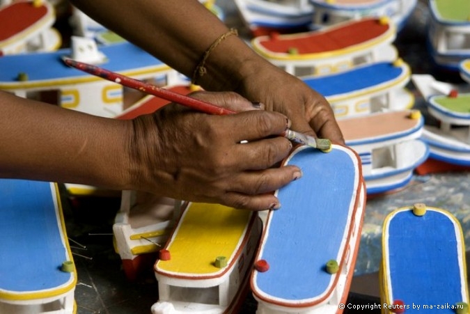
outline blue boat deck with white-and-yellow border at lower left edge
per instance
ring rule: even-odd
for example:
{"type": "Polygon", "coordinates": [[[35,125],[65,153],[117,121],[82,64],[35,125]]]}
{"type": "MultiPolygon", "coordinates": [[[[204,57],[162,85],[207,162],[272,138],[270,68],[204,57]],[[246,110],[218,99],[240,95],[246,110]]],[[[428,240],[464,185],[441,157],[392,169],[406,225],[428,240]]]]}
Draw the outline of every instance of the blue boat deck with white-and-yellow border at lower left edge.
{"type": "Polygon", "coordinates": [[[0,299],[75,286],[60,269],[71,256],[55,202],[50,182],[0,180],[0,299]]]}

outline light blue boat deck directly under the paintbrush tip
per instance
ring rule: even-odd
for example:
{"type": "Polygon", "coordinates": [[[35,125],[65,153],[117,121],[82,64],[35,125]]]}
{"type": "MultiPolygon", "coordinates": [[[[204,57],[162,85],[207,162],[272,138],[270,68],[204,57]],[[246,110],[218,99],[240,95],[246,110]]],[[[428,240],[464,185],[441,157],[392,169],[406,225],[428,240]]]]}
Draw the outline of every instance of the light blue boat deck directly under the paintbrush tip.
{"type": "Polygon", "coordinates": [[[303,176],[279,190],[281,209],[269,216],[267,235],[258,260],[267,260],[267,272],[255,272],[256,296],[297,303],[311,302],[332,288],[335,276],[324,267],[340,262],[354,212],[359,173],[350,150],[324,153],[300,150],[288,164],[303,176]]]}

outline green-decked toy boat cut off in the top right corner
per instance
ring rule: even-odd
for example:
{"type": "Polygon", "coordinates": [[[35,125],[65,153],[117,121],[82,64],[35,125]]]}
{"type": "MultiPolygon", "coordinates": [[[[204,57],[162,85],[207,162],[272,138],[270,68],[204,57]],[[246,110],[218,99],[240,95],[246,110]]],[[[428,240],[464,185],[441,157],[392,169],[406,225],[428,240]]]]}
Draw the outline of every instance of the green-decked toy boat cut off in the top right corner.
{"type": "Polygon", "coordinates": [[[470,3],[466,0],[430,0],[428,47],[441,68],[457,72],[470,58],[470,3]]]}

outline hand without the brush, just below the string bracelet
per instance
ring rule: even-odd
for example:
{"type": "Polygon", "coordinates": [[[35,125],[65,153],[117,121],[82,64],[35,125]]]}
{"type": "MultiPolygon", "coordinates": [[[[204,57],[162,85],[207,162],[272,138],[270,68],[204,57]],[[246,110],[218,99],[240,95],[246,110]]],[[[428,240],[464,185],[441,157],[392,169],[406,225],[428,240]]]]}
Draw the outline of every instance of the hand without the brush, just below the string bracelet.
{"type": "Polygon", "coordinates": [[[251,70],[237,92],[249,100],[262,102],[266,110],[285,114],[297,132],[344,144],[331,105],[322,95],[267,61],[258,60],[247,68],[251,70]]]}

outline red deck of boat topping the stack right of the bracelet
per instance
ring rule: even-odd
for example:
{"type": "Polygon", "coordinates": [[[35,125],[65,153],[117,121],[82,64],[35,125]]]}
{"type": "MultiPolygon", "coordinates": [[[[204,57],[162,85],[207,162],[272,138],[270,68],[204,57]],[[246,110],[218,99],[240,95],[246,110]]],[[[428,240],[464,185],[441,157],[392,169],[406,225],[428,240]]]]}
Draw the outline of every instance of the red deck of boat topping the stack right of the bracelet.
{"type": "Polygon", "coordinates": [[[380,19],[361,19],[328,31],[308,32],[304,37],[270,36],[266,40],[260,40],[260,45],[271,52],[285,53],[295,47],[298,54],[315,54],[344,49],[373,40],[389,29],[389,23],[381,22],[380,19]]]}

